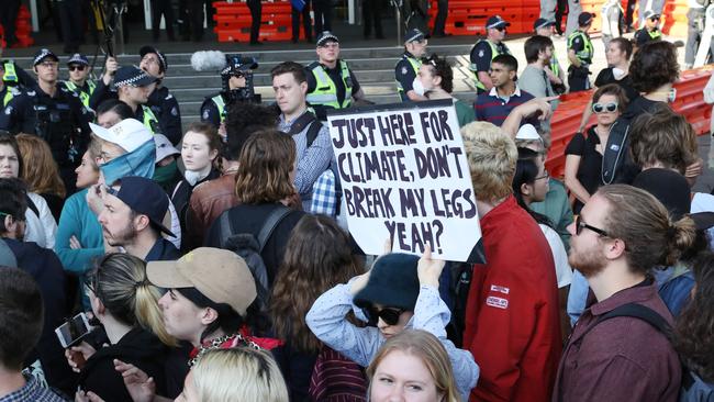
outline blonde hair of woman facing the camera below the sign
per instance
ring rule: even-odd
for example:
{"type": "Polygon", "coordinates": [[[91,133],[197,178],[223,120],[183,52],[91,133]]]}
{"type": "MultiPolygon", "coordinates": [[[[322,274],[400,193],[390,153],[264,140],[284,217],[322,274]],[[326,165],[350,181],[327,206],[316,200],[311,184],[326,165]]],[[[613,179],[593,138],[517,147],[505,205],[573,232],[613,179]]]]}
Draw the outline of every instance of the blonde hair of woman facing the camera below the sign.
{"type": "Polygon", "coordinates": [[[460,402],[461,397],[454,380],[451,360],[444,345],[436,336],[423,330],[402,331],[382,345],[372,362],[367,367],[367,378],[370,383],[368,394],[371,393],[371,382],[377,367],[387,355],[394,350],[419,357],[422,360],[432,375],[436,392],[442,395],[443,402],[460,402]]]}

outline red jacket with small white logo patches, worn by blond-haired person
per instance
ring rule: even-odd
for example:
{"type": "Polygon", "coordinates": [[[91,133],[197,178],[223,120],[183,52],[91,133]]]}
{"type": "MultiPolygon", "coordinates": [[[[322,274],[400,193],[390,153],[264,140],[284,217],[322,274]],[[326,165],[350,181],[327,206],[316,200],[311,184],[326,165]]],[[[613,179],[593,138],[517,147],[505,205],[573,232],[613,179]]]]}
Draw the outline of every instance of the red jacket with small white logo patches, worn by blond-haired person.
{"type": "Polygon", "coordinates": [[[481,219],[464,348],[481,368],[471,401],[549,401],[562,344],[548,242],[513,197],[481,219]]]}

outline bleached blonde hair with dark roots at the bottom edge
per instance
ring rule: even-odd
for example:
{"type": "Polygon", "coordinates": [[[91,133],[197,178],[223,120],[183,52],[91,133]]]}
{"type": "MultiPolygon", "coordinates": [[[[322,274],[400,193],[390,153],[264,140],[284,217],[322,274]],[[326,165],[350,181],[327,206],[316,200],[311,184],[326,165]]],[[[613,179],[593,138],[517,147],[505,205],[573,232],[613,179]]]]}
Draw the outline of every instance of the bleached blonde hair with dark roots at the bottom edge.
{"type": "Polygon", "coordinates": [[[199,400],[288,402],[288,387],[272,356],[263,349],[212,349],[191,370],[199,400]]]}

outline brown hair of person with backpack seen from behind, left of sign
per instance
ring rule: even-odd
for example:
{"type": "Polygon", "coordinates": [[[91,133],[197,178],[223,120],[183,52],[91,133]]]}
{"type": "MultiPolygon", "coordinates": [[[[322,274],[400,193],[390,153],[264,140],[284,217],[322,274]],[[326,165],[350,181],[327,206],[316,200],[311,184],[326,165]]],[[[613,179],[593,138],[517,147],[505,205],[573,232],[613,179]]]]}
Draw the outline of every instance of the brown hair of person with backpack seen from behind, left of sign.
{"type": "Polygon", "coordinates": [[[238,203],[278,202],[295,193],[290,180],[297,158],[295,143],[278,130],[264,130],[250,135],[243,145],[235,175],[238,203]]]}

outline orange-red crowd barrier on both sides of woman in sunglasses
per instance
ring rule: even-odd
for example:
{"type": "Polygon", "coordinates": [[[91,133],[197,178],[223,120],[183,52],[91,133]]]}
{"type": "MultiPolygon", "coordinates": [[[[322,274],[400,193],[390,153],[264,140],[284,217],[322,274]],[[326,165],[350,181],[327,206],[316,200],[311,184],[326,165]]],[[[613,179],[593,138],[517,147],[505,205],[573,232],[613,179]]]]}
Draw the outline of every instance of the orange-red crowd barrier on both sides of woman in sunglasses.
{"type": "MultiPolygon", "coordinates": [[[[698,135],[709,133],[712,105],[704,102],[702,90],[714,70],[714,65],[683,71],[680,80],[674,83],[677,99],[672,108],[687,118],[698,135]]],[[[561,102],[553,115],[550,127],[553,131],[550,150],[546,159],[546,167],[553,177],[562,178],[566,167],[566,146],[580,126],[582,113],[588,107],[593,90],[569,93],[561,97],[561,102]]],[[[592,115],[588,126],[595,123],[592,115]]]]}

